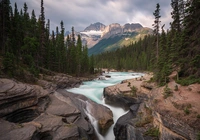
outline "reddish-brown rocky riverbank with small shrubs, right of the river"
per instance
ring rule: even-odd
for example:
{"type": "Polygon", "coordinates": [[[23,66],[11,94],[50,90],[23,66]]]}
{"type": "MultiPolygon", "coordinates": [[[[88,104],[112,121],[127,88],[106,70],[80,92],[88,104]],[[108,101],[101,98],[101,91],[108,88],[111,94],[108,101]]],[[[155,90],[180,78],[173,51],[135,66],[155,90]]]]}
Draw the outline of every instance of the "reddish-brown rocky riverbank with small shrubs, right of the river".
{"type": "Polygon", "coordinates": [[[144,75],[104,89],[107,102],[130,108],[115,125],[117,139],[199,138],[200,84],[181,86],[173,80],[175,76],[172,73],[164,87],[149,83],[152,75],[144,75]]]}

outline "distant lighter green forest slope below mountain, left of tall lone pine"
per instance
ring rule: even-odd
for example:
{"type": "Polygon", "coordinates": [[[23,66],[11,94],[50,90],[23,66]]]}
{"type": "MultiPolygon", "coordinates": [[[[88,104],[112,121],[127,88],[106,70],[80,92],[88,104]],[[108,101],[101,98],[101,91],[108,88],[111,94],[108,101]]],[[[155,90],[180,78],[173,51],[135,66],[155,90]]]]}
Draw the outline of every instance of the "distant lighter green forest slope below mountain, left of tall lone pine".
{"type": "Polygon", "coordinates": [[[152,46],[154,37],[146,36],[143,41],[140,39],[127,47],[117,49],[113,52],[106,52],[95,56],[97,68],[107,67],[117,70],[151,70],[155,48],[152,46]]]}

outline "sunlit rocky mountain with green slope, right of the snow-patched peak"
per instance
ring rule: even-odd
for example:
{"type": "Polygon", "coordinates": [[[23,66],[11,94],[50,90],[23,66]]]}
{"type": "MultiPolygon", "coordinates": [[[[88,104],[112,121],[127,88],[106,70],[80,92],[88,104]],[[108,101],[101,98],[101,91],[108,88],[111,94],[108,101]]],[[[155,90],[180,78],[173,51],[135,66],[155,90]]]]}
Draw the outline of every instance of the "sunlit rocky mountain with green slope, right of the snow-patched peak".
{"type": "Polygon", "coordinates": [[[99,54],[105,51],[116,50],[117,48],[127,46],[147,34],[151,34],[152,29],[143,27],[139,23],[125,24],[121,26],[113,23],[104,29],[101,39],[88,52],[89,55],[99,54]]]}

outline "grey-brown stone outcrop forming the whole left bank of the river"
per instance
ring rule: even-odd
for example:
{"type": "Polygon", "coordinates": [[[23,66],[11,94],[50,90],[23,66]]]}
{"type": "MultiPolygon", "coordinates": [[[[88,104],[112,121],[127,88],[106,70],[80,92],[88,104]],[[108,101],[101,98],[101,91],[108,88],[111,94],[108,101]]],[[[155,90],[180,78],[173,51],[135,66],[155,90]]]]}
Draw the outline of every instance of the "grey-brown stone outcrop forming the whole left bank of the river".
{"type": "Polygon", "coordinates": [[[77,86],[83,79],[41,77],[38,84],[42,87],[0,79],[0,139],[96,140],[89,114],[102,130],[113,123],[107,107],[61,89],[77,86]]]}

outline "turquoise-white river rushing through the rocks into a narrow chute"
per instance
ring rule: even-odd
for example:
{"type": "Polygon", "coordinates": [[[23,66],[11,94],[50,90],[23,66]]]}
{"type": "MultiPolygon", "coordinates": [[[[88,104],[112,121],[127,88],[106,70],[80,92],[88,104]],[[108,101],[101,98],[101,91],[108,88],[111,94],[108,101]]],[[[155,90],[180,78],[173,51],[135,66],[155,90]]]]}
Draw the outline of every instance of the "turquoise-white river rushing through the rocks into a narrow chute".
{"type": "MultiPolygon", "coordinates": [[[[91,100],[95,101],[96,103],[107,106],[108,108],[110,108],[112,110],[113,120],[114,120],[114,123],[116,123],[117,119],[120,116],[122,116],[123,114],[125,114],[127,111],[120,107],[114,107],[114,106],[105,104],[104,99],[103,99],[103,89],[105,87],[118,84],[122,80],[141,77],[142,75],[143,75],[142,73],[129,73],[129,72],[104,73],[101,76],[100,80],[96,79],[93,81],[83,82],[83,84],[80,87],[68,89],[67,91],[75,93],[75,94],[85,95],[86,97],[90,98],[91,100]],[[111,76],[111,77],[106,78],[105,77],[106,75],[111,76]]],[[[93,123],[93,126],[96,130],[99,140],[114,140],[115,139],[114,134],[113,134],[114,124],[110,127],[108,132],[104,136],[102,136],[101,134],[98,133],[97,122],[91,116],[90,116],[90,120],[93,123]]]]}

